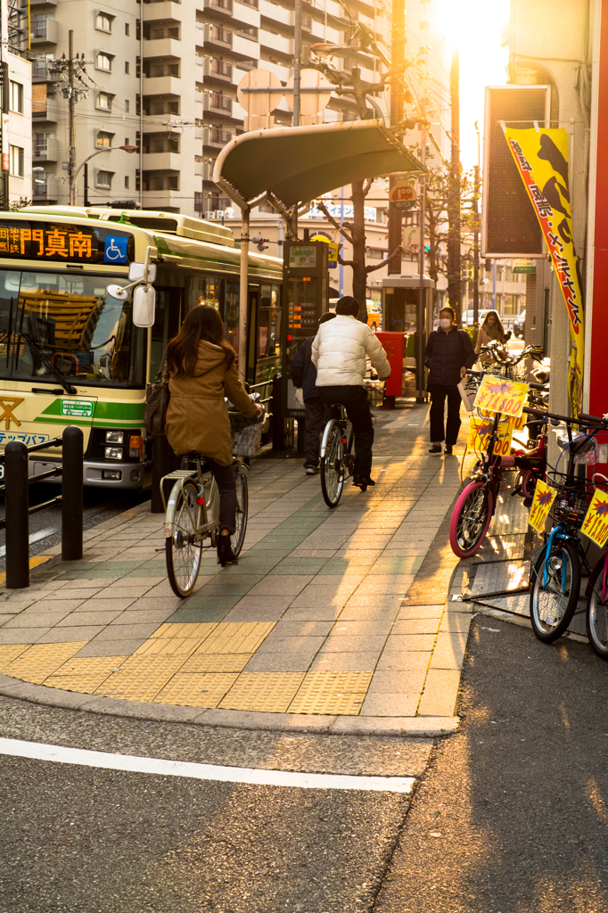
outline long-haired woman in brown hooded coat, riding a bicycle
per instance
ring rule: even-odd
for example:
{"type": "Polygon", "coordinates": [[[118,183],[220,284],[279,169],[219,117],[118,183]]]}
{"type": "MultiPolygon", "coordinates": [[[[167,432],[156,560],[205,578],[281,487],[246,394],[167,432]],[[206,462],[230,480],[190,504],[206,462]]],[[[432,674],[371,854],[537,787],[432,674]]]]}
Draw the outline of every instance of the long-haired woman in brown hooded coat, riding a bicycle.
{"type": "Polygon", "coordinates": [[[178,455],[207,457],[220,496],[217,558],[236,561],[230,536],[236,530],[236,480],[225,396],[246,418],[262,414],[246,394],[235,367],[235,352],[224,341],[224,324],[206,304],[191,310],[166,352],[171,398],[165,434],[178,455]]]}

